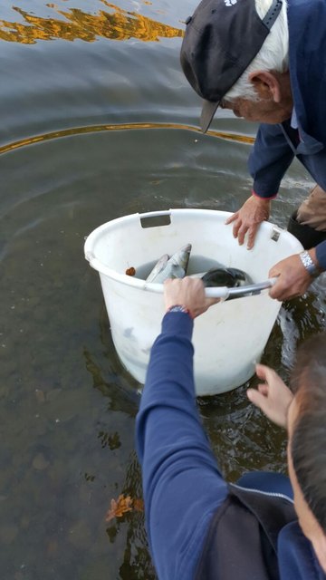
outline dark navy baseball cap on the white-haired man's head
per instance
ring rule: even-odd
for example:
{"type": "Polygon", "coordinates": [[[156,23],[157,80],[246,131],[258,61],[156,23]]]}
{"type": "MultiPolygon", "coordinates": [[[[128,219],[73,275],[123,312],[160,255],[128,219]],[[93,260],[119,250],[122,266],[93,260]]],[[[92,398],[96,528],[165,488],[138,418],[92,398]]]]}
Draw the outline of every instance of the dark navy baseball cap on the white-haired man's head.
{"type": "Polygon", "coordinates": [[[259,53],[281,8],[282,0],[273,0],[261,19],[254,0],[202,0],[187,18],[180,61],[187,81],[205,100],[204,133],[226,92],[259,53]]]}

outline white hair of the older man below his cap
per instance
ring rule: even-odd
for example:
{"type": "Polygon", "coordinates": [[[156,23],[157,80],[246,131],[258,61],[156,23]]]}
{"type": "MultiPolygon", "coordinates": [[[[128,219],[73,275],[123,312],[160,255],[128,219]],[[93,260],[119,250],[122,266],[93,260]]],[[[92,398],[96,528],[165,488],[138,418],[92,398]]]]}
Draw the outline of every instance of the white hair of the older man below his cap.
{"type": "MultiPolygon", "coordinates": [[[[267,13],[271,0],[255,0],[255,8],[261,18],[267,13]]],[[[250,31],[248,31],[250,34],[250,31]]],[[[286,13],[286,2],[283,6],[270,34],[267,35],[259,53],[254,61],[245,69],[245,73],[235,82],[229,92],[225,94],[225,101],[232,101],[237,97],[258,101],[259,97],[254,91],[254,85],[248,80],[250,73],[254,71],[277,71],[285,73],[289,67],[289,30],[286,13]]]]}

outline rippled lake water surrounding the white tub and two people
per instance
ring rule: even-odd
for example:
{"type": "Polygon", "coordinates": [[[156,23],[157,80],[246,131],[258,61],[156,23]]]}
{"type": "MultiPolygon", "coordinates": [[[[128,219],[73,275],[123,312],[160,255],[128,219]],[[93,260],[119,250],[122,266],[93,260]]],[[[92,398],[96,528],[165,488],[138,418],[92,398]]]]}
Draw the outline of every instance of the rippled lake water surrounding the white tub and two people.
{"type": "MultiPolygon", "coordinates": [[[[105,521],[112,498],[141,498],[139,385],[114,352],[83,243],[129,213],[232,211],[248,196],[255,126],[220,111],[201,135],[200,103],[180,71],[196,4],[0,8],[2,580],[155,578],[141,506],[105,521]]],[[[284,227],[310,185],[294,163],[271,220],[284,227]]],[[[283,304],[264,362],[287,379],[297,343],[324,321],[320,278],[283,304]]],[[[248,384],[199,401],[231,479],[285,469],[283,432],[248,404],[248,384]]]]}

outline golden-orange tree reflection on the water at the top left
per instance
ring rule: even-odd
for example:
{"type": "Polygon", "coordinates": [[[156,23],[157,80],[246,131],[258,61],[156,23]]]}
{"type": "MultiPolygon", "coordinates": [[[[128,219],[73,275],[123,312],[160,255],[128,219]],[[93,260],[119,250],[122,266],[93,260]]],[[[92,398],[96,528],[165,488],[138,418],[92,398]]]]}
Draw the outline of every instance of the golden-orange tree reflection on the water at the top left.
{"type": "Polygon", "coordinates": [[[80,39],[91,43],[97,37],[111,40],[137,38],[144,42],[153,42],[159,38],[175,38],[183,35],[181,29],[151,20],[136,12],[127,12],[115,5],[104,4],[114,12],[100,11],[98,14],[87,14],[79,8],[72,8],[69,11],[57,10],[65,20],[41,18],[14,7],[14,10],[24,18],[24,23],[0,20],[0,39],[24,44],[56,38],[69,41],[80,39]]]}

